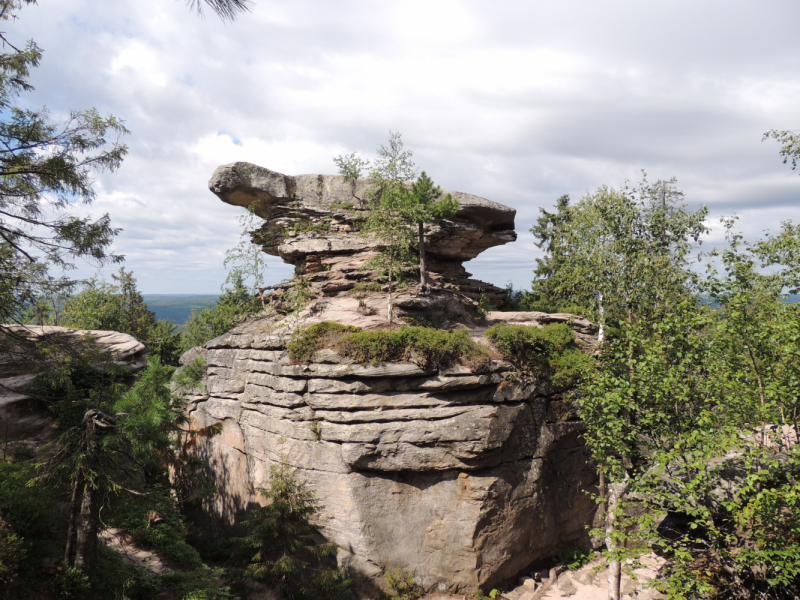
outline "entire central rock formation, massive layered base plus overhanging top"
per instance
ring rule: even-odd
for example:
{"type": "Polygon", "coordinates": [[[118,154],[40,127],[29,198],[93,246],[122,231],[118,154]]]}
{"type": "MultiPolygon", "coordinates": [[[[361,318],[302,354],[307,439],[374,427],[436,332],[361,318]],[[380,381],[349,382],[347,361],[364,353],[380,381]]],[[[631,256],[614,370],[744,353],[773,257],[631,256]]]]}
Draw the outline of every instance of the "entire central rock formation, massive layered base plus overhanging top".
{"type": "Polygon", "coordinates": [[[477,319],[477,284],[461,266],[514,239],[512,209],[454,193],[458,215],[428,229],[437,285],[412,286],[397,301],[407,316],[467,327],[493,360],[478,368],[361,365],[324,349],[293,364],[287,345],[313,323],[386,327],[382,295],[353,289],[369,281],[358,267],[376,250],[351,230],[368,182],[236,163],[209,185],[225,202],[255,203],[265,224],[254,241],[303,265],[316,286],[302,310],[268,310],[182,358],[202,354],[208,365],[205,389],[190,398],[193,424],[224,423],[200,448],[219,490],[205,507],[215,522],[235,526],[262,502],[270,466],[286,460],[315,491],[321,532],[362,585],[399,568],[428,589],[486,589],[588,543],[594,505],[583,492],[595,476],[568,394],[545,373],[518,372],[483,332],[499,322],[567,322],[590,347],[595,326],[545,313],[477,319]]]}

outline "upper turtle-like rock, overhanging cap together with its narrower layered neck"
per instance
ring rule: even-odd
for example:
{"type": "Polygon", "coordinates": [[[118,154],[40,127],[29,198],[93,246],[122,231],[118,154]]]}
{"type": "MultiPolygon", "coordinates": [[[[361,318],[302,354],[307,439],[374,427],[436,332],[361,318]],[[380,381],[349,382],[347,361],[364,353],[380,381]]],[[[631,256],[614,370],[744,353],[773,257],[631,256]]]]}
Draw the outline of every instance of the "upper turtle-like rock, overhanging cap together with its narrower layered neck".
{"type": "MultiPolygon", "coordinates": [[[[373,239],[355,231],[364,217],[371,183],[351,184],[338,175],[292,177],[245,162],[219,167],[208,184],[223,202],[254,206],[265,223],[253,236],[264,252],[302,267],[315,287],[336,294],[369,277],[362,269],[378,249],[373,239]]],[[[467,296],[486,294],[499,302],[502,290],[472,280],[462,262],[493,246],[514,241],[513,208],[464,194],[447,192],[460,209],[452,219],[426,225],[426,252],[435,284],[467,296]]]]}

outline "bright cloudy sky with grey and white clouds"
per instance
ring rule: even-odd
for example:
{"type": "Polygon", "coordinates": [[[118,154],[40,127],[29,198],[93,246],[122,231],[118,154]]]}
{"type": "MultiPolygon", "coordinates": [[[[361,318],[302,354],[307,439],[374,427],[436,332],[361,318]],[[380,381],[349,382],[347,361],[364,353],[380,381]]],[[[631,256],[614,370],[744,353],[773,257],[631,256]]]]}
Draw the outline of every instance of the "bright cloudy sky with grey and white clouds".
{"type": "MultiPolygon", "coordinates": [[[[500,286],[530,286],[540,208],[642,169],[709,207],[707,246],[722,215],[750,239],[800,221],[800,177],[762,142],[800,129],[798,24],[796,0],[254,0],[232,23],[183,0],[39,0],[4,30],[44,50],[20,105],[125,121],[122,167],[74,210],[122,228],[143,292],[189,294],[219,290],[239,238],[217,166],[335,173],[390,130],[443,188],[517,210],[517,241],[466,264],[500,286]]],[[[291,276],[267,262],[267,283],[291,276]]]]}

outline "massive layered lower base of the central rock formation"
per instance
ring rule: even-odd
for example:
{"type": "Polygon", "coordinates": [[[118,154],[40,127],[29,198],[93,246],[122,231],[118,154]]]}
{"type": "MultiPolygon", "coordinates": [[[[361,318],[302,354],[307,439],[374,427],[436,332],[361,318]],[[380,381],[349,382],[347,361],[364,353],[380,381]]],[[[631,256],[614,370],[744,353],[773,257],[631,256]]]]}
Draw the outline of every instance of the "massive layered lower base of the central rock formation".
{"type": "MultiPolygon", "coordinates": [[[[313,312],[301,316],[320,320],[313,312]]],[[[594,473],[582,424],[543,375],[502,360],[477,372],[364,366],[331,350],[291,364],[289,333],[262,319],[201,350],[207,392],[191,398],[190,415],[224,423],[201,448],[224,490],[206,507],[216,519],[233,525],[260,504],[270,466],[285,459],[315,491],[340,565],[361,581],[401,568],[429,589],[475,589],[588,543],[594,505],[583,491],[594,473]]]]}

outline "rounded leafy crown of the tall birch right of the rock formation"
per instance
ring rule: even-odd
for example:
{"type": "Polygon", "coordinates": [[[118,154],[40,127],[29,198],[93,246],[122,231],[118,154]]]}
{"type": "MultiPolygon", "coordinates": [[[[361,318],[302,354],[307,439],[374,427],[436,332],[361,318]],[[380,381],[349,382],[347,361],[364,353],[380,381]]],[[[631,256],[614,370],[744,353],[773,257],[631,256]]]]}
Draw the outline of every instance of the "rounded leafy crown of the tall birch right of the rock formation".
{"type": "Polygon", "coordinates": [[[706,231],[706,208],[688,211],[682,198],[674,180],[650,184],[646,177],[635,189],[601,187],[574,206],[559,198],[557,211],[542,210],[531,228],[546,252],[537,260],[532,302],[575,307],[601,331],[657,320],[688,293],[695,277],[688,256],[706,231]]]}

